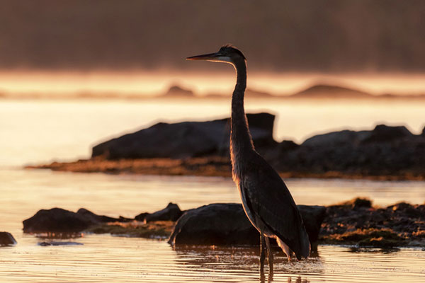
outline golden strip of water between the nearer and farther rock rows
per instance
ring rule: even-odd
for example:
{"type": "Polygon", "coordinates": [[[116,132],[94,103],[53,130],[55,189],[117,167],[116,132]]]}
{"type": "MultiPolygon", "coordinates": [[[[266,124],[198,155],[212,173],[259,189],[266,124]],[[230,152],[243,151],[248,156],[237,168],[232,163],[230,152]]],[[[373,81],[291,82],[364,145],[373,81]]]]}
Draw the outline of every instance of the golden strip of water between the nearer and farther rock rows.
{"type": "MultiPolygon", "coordinates": [[[[21,221],[39,209],[84,207],[96,214],[134,217],[176,202],[191,209],[213,202],[240,202],[230,178],[157,175],[108,175],[48,170],[0,170],[0,219],[17,232],[21,221]]],[[[297,204],[327,205],[368,197],[375,205],[423,203],[425,183],[419,181],[285,180],[297,204]]]]}

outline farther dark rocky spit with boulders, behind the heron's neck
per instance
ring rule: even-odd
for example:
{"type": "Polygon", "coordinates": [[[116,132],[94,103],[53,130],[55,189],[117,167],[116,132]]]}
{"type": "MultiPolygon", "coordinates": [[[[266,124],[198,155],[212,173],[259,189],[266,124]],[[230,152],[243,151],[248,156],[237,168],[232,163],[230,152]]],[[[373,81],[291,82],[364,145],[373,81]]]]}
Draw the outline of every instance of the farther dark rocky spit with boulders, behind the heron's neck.
{"type": "MultiPolygon", "coordinates": [[[[329,132],[302,144],[273,139],[274,115],[247,115],[257,151],[284,178],[425,180],[425,129],[329,132]]],[[[94,146],[88,160],[28,168],[154,175],[230,176],[229,119],[158,123],[94,146]]]]}

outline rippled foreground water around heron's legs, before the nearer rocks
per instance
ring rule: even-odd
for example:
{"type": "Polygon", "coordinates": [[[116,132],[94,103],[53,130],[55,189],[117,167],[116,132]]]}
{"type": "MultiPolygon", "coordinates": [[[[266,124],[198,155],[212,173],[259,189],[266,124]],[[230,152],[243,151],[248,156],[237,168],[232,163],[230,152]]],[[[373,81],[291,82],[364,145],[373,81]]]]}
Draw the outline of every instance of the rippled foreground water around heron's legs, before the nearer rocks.
{"type": "MultiPolygon", "coordinates": [[[[0,249],[2,282],[261,282],[256,248],[173,250],[164,241],[111,236],[86,236],[79,239],[84,246],[40,247],[25,240],[28,246],[0,249]]],[[[290,263],[274,254],[271,282],[425,282],[420,250],[320,246],[318,256],[290,263]]]]}

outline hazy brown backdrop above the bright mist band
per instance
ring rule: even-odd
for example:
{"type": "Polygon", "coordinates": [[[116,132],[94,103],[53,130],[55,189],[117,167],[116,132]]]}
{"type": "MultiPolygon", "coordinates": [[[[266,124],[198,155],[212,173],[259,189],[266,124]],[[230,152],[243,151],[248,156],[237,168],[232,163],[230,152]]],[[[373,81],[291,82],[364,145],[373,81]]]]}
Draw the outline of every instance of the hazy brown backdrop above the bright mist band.
{"type": "MultiPolygon", "coordinates": [[[[425,71],[420,0],[0,1],[0,70],[198,70],[231,42],[255,71],[425,71]]],[[[213,65],[213,66],[212,66],[213,65]]]]}

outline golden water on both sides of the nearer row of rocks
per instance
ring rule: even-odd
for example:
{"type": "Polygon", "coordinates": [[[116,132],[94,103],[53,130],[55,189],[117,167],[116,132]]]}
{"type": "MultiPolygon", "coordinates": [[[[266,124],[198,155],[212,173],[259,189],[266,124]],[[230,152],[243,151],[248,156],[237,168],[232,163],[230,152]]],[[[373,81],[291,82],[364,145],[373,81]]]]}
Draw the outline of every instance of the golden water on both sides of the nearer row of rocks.
{"type": "MultiPolygon", "coordinates": [[[[166,241],[108,235],[66,240],[83,246],[42,247],[38,243],[44,239],[21,230],[23,219],[43,208],[85,207],[98,214],[133,217],[162,209],[169,201],[181,209],[239,202],[228,178],[0,170],[0,180],[1,230],[13,233],[18,241],[16,246],[0,248],[0,282],[260,282],[258,248],[174,249],[166,241]]],[[[357,195],[373,197],[381,205],[425,200],[421,182],[298,179],[286,183],[300,204],[329,204],[357,195]]],[[[275,257],[271,282],[425,282],[425,252],[418,248],[387,253],[319,246],[319,255],[306,262],[288,263],[279,250],[275,257]]]]}

